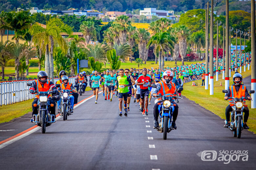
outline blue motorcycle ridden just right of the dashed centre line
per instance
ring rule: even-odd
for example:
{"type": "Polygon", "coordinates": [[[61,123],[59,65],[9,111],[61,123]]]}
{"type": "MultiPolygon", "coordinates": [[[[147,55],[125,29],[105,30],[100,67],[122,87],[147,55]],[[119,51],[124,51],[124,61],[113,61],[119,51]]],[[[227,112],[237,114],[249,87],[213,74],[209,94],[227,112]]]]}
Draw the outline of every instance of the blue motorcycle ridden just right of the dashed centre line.
{"type": "MultiPolygon", "coordinates": [[[[155,84],[152,84],[151,87],[156,88],[157,86],[155,84]]],[[[182,91],[183,88],[180,87],[178,89],[178,91],[182,91]]],[[[167,133],[169,133],[171,130],[175,129],[173,128],[172,125],[172,115],[173,115],[173,111],[174,111],[174,106],[176,106],[175,104],[171,103],[172,101],[175,101],[175,99],[179,98],[182,99],[182,97],[178,97],[178,96],[171,96],[173,94],[157,94],[154,95],[154,97],[158,97],[159,100],[155,100],[155,104],[159,101],[161,101],[160,103],[158,103],[158,111],[159,111],[159,117],[160,117],[160,121],[159,122],[159,127],[157,128],[157,130],[160,133],[163,133],[163,139],[166,140],[167,138],[167,133]]]]}

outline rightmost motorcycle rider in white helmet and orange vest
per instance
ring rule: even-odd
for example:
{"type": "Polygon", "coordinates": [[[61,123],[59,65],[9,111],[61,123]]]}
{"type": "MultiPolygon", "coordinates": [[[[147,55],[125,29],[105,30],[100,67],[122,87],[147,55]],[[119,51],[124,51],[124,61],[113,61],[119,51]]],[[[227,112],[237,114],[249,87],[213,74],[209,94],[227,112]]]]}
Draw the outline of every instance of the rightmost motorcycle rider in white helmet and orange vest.
{"type": "MultiPolygon", "coordinates": [[[[228,97],[237,97],[237,98],[246,97],[249,100],[251,100],[251,96],[248,93],[246,86],[242,85],[242,81],[243,81],[243,76],[240,73],[235,73],[233,75],[234,84],[229,86],[224,99],[227,99],[228,97]]],[[[232,104],[232,103],[234,103],[234,99],[229,99],[229,105],[226,107],[226,111],[225,111],[226,124],[224,125],[224,127],[230,126],[230,111],[232,111],[232,107],[230,106],[230,104],[232,104]]],[[[244,101],[244,104],[245,104],[245,101],[244,101]]],[[[244,127],[244,129],[249,129],[249,127],[246,124],[248,117],[249,117],[248,107],[245,106],[243,112],[244,112],[244,126],[243,127],[244,127]]]]}

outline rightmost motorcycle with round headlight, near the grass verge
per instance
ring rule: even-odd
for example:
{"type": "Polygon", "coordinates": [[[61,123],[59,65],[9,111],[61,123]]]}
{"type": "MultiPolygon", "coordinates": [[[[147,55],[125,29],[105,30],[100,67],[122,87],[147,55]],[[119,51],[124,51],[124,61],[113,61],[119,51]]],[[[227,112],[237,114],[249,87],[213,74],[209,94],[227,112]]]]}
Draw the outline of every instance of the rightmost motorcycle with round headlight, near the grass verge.
{"type": "MultiPolygon", "coordinates": [[[[222,90],[222,93],[227,93],[227,90],[222,90]]],[[[250,90],[249,93],[254,93],[254,90],[250,90]]],[[[245,105],[243,103],[244,100],[249,100],[246,97],[228,97],[225,100],[233,99],[234,103],[231,103],[230,106],[232,108],[231,111],[231,120],[230,120],[230,127],[229,129],[233,131],[233,136],[237,138],[241,138],[242,130],[244,130],[243,126],[243,110],[245,105]]],[[[226,120],[225,120],[226,123],[226,120]]]]}

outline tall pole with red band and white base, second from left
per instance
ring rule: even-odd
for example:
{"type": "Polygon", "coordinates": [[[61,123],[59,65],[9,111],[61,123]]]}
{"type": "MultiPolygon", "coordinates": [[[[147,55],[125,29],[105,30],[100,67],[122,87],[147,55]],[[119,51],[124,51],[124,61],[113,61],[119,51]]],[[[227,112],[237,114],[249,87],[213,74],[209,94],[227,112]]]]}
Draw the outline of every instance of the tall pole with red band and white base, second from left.
{"type": "Polygon", "coordinates": [[[210,27],[210,95],[213,95],[213,0],[211,0],[210,27]]]}

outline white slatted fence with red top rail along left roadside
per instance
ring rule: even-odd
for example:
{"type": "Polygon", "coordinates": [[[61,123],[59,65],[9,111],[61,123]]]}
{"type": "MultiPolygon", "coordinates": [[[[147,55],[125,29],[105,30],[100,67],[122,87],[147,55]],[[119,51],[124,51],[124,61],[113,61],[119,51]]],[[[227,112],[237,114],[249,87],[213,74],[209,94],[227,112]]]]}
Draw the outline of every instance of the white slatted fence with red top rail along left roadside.
{"type": "MultiPolygon", "coordinates": [[[[89,76],[87,76],[89,86],[89,76]]],[[[36,79],[33,79],[36,80],[36,79]]],[[[13,80],[0,82],[0,106],[10,105],[17,102],[35,98],[35,94],[29,93],[27,82],[33,80],[13,80]]],[[[59,78],[54,78],[54,84],[59,78]]],[[[75,85],[75,77],[69,77],[69,82],[75,85]]]]}

